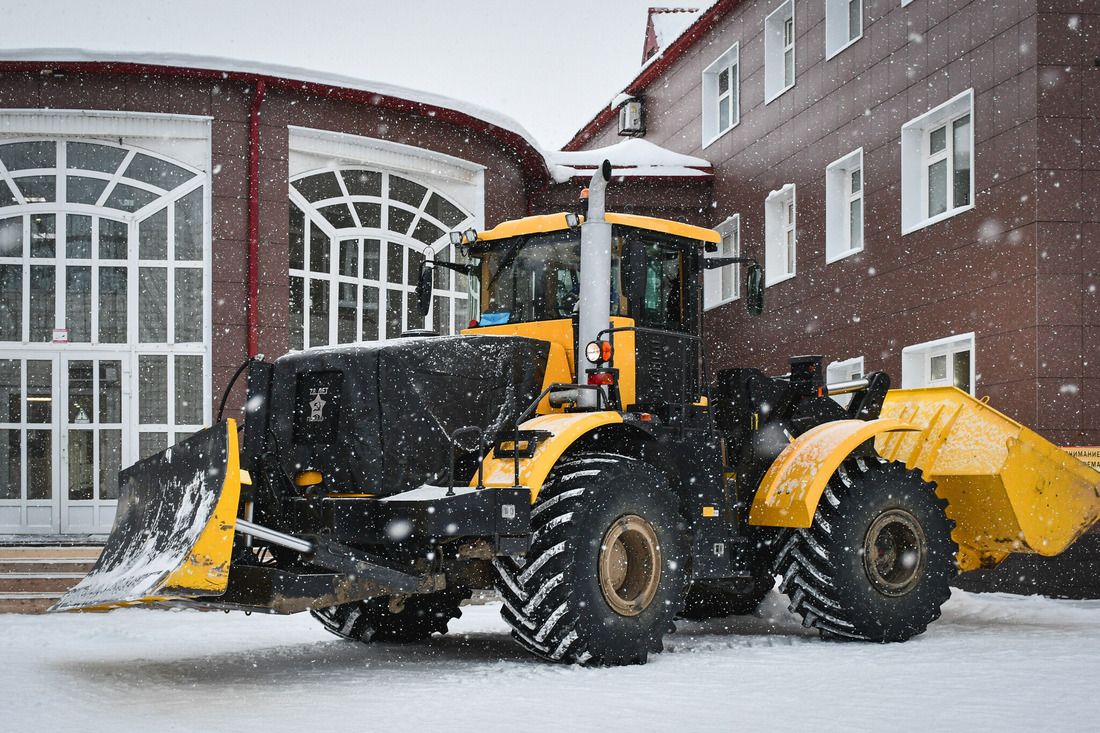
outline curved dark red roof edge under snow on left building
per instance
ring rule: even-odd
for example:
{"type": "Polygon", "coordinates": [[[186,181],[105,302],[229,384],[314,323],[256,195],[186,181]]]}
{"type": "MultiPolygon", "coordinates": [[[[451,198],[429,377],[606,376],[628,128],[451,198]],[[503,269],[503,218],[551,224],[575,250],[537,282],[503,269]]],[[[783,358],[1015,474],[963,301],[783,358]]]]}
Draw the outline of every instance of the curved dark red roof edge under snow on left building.
{"type": "Polygon", "coordinates": [[[56,69],[73,74],[120,74],[120,75],[147,75],[147,76],[179,76],[199,79],[233,79],[248,84],[260,84],[266,87],[275,87],[300,91],[318,97],[339,99],[361,105],[371,105],[402,112],[420,114],[433,120],[442,120],[450,124],[469,128],[477,132],[487,134],[499,140],[508,147],[516,151],[516,157],[524,167],[525,174],[547,185],[551,183],[550,171],[547,167],[546,158],[530,142],[522,135],[497,127],[492,122],[482,120],[459,110],[447,107],[438,107],[427,102],[418,102],[400,97],[367,91],[363,89],[349,89],[317,81],[302,81],[286,77],[271,76],[267,74],[256,74],[252,72],[221,72],[209,68],[193,68],[188,66],[160,66],[156,64],[135,64],[131,62],[13,62],[0,61],[0,72],[41,72],[43,69],[56,69]]]}

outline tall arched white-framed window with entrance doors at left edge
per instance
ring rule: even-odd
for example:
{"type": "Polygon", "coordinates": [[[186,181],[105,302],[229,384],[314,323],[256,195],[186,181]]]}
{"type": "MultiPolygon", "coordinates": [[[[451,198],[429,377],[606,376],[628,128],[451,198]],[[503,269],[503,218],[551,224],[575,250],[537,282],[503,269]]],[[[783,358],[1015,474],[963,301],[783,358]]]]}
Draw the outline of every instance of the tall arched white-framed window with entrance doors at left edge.
{"type": "Polygon", "coordinates": [[[204,426],[208,179],[100,140],[0,142],[0,527],[102,532],[119,469],[204,426]]]}

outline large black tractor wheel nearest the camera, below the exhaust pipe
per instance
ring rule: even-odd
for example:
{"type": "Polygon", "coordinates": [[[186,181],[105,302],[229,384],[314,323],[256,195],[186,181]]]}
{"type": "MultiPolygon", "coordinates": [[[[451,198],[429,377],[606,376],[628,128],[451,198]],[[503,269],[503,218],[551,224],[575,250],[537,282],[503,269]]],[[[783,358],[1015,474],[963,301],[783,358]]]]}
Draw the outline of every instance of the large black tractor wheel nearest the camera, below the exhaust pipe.
{"type": "Polygon", "coordinates": [[[683,606],[684,523],[652,467],[616,455],[559,466],[531,511],[526,558],[498,558],[502,615],[551,661],[645,664],[683,606]]]}

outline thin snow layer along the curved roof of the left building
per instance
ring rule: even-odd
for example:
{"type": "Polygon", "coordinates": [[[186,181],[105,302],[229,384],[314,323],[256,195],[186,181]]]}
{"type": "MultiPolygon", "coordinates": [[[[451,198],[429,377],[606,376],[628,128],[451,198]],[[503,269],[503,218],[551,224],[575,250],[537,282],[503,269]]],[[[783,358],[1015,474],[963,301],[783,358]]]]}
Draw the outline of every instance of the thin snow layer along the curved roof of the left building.
{"type": "Polygon", "coordinates": [[[309,84],[375,92],[385,97],[404,99],[418,105],[450,109],[501,128],[521,138],[546,157],[544,151],[518,121],[495,110],[460,99],[452,99],[428,91],[409,89],[383,81],[372,81],[352,76],[316,72],[297,66],[263,62],[176,53],[99,51],[92,48],[0,48],[0,62],[84,63],[84,64],[138,64],[166,68],[193,68],[233,74],[254,74],[264,77],[293,79],[309,84]]]}

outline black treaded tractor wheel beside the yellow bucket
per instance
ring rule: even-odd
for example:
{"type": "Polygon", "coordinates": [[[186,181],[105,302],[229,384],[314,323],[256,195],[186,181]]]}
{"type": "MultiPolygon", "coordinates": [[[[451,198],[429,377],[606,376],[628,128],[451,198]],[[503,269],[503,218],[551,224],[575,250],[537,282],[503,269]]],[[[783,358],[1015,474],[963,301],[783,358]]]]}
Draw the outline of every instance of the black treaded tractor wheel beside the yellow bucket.
{"type": "Polygon", "coordinates": [[[957,575],[955,523],[935,483],[881,459],[849,459],[813,526],[780,549],[780,590],[825,635],[903,642],[939,617],[957,575]]]}

